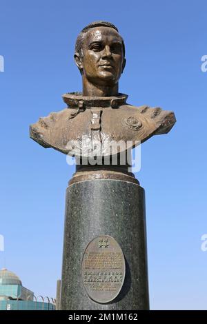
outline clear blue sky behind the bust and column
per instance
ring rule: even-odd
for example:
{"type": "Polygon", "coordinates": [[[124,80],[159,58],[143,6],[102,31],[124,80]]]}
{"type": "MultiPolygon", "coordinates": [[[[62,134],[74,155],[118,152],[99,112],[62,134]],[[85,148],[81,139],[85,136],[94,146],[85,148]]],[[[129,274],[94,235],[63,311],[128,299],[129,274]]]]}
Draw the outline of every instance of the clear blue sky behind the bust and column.
{"type": "Polygon", "coordinates": [[[29,138],[30,123],[81,90],[73,61],[78,32],[114,23],[126,43],[120,92],[134,105],[173,110],[168,135],[141,147],[146,190],[150,307],[207,309],[206,1],[0,1],[0,267],[35,294],[55,296],[61,276],[66,156],[29,138]]]}

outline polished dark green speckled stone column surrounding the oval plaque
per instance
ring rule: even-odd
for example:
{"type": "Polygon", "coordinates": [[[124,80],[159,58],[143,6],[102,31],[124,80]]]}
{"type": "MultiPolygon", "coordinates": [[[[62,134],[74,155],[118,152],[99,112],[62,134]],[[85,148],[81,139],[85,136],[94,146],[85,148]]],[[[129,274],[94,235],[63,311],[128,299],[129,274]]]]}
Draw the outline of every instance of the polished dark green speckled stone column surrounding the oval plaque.
{"type": "Polygon", "coordinates": [[[62,310],[148,310],[144,189],[135,183],[109,179],[69,185],[61,281],[62,310]],[[114,301],[92,301],[81,279],[88,243],[110,235],[126,259],[126,278],[114,301]]]}

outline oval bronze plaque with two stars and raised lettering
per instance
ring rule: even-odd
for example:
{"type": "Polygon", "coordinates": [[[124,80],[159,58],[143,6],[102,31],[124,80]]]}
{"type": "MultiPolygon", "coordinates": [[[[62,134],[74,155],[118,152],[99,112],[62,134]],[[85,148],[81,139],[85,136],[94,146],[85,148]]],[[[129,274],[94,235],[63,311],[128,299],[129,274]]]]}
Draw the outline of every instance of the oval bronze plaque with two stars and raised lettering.
{"type": "Polygon", "coordinates": [[[118,296],[125,270],[124,254],[111,236],[98,236],[87,245],[81,265],[83,285],[97,303],[109,303],[118,296]]]}

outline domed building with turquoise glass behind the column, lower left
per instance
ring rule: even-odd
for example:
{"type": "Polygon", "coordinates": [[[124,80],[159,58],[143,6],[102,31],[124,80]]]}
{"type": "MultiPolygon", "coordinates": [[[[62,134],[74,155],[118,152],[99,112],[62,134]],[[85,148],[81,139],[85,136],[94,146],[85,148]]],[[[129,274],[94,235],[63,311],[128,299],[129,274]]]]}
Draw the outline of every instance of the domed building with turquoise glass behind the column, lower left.
{"type": "Polygon", "coordinates": [[[0,271],[0,310],[55,310],[55,303],[41,297],[37,301],[34,293],[23,287],[14,272],[3,268],[0,271]]]}

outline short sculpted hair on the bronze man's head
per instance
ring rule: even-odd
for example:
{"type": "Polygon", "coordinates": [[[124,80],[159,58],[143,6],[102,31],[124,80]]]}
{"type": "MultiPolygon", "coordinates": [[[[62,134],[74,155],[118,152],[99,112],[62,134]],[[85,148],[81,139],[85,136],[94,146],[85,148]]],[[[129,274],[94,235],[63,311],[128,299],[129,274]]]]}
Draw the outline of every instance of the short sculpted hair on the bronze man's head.
{"type": "MultiPolygon", "coordinates": [[[[83,52],[82,52],[82,46],[83,46],[83,41],[84,41],[84,37],[86,36],[86,32],[88,32],[88,30],[90,30],[91,28],[95,28],[95,27],[110,27],[112,29],[117,30],[117,32],[119,32],[118,28],[113,25],[112,23],[109,23],[108,21],[94,21],[93,23],[89,23],[86,27],[84,27],[81,32],[79,33],[78,37],[77,37],[77,41],[75,43],[75,53],[78,53],[81,57],[83,56],[83,52]]],[[[122,39],[122,46],[123,46],[123,53],[124,53],[124,57],[125,57],[125,45],[124,45],[124,39],[122,39]]]]}

